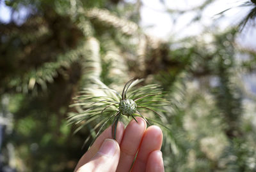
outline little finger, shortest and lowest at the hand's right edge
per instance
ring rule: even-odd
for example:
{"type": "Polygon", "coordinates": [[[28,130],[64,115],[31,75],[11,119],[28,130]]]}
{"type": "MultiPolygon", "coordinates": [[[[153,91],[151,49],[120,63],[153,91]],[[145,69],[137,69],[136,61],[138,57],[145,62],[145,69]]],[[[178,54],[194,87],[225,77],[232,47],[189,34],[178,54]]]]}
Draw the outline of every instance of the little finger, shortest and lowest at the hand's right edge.
{"type": "Polygon", "coordinates": [[[163,162],[163,155],[160,150],[154,150],[150,153],[147,166],[147,172],[163,172],[164,171],[164,162],[163,162]]]}

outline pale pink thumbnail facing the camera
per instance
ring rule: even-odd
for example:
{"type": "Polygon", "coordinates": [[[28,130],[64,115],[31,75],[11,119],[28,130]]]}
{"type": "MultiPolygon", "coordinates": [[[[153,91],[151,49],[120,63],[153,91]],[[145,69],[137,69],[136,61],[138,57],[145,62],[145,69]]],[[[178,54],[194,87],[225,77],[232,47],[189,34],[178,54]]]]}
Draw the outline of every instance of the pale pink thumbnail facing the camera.
{"type": "Polygon", "coordinates": [[[99,153],[113,157],[116,151],[116,142],[112,139],[106,139],[100,147],[99,153]]]}

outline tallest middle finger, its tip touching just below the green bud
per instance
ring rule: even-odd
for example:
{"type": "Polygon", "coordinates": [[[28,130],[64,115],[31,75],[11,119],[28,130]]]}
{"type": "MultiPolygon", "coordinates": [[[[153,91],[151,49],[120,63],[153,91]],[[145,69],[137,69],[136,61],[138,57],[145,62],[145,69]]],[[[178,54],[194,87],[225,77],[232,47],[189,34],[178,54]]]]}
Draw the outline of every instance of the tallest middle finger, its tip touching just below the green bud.
{"type": "Polygon", "coordinates": [[[136,120],[138,123],[132,120],[124,131],[123,140],[120,145],[120,160],[116,171],[129,171],[140,146],[147,124],[143,118],[137,117],[136,120]]]}

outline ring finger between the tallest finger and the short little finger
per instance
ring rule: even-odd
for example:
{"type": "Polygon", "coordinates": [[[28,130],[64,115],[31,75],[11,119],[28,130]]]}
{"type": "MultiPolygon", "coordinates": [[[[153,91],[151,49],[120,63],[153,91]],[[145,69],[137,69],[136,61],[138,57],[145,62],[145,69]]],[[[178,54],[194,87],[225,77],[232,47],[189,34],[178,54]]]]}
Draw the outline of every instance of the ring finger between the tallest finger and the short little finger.
{"type": "Polygon", "coordinates": [[[152,125],[147,128],[141,141],[140,150],[132,171],[145,171],[147,159],[151,152],[160,150],[163,141],[163,133],[159,127],[152,125]]]}

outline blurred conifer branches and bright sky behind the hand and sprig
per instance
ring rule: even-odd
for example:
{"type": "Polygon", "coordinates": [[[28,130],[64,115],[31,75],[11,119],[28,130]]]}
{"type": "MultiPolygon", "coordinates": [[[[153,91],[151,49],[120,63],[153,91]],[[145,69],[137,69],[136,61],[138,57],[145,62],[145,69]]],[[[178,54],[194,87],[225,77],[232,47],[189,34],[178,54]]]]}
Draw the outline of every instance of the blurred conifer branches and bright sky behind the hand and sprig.
{"type": "Polygon", "coordinates": [[[256,1],[0,1],[0,171],[72,171],[90,78],[158,83],[166,171],[256,171],[256,1]]]}

